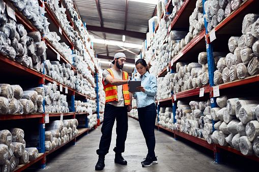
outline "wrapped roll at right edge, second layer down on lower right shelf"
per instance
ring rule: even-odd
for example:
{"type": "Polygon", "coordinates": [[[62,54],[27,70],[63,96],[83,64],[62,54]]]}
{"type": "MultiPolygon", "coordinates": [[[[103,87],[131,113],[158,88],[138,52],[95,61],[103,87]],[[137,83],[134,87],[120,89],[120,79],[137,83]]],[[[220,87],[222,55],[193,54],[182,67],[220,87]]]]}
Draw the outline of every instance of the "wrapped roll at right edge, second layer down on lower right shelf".
{"type": "Polygon", "coordinates": [[[250,142],[259,136],[259,122],[258,121],[250,121],[246,124],[245,132],[247,138],[250,142]]]}

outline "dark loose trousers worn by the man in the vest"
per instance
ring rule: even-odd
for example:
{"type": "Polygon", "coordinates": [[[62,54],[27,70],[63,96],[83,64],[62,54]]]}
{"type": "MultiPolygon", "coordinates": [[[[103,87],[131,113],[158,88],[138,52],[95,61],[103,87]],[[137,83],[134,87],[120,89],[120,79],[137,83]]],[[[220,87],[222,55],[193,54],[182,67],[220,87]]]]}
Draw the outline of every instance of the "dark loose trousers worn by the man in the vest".
{"type": "Polygon", "coordinates": [[[117,121],[116,127],[116,147],[113,149],[116,153],[122,153],[125,150],[125,141],[128,132],[128,113],[127,107],[114,107],[106,104],[104,109],[104,119],[102,124],[102,136],[99,149],[96,151],[98,155],[106,155],[109,152],[112,128],[117,121]]]}

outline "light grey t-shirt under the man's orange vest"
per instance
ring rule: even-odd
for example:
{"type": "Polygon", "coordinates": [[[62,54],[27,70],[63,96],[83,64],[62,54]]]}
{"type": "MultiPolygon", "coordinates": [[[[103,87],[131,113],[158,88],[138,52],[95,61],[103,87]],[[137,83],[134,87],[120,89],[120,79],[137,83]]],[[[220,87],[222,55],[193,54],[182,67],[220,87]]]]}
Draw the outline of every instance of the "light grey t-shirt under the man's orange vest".
{"type": "MultiPolygon", "coordinates": [[[[114,78],[116,79],[121,79],[122,80],[122,70],[120,71],[115,71],[113,70],[113,68],[110,68],[113,75],[114,75],[114,78]]],[[[104,84],[108,84],[105,79],[107,76],[110,76],[110,73],[107,71],[107,70],[104,70],[103,71],[103,81],[104,81],[104,84]]],[[[117,95],[118,95],[118,101],[110,101],[108,102],[107,104],[110,104],[110,105],[113,105],[113,106],[116,106],[116,107],[124,107],[124,98],[123,98],[123,93],[122,93],[122,85],[119,85],[117,86],[117,95]]]]}

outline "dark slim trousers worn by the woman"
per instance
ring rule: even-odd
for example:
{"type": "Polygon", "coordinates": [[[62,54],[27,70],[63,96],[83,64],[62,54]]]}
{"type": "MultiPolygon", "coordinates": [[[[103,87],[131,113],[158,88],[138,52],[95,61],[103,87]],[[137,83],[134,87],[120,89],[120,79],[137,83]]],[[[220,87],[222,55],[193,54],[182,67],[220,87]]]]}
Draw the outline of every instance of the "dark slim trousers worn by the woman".
{"type": "Polygon", "coordinates": [[[143,132],[143,135],[146,140],[146,144],[148,147],[148,155],[151,157],[155,156],[155,122],[156,122],[156,106],[155,104],[151,104],[149,106],[138,108],[138,121],[140,128],[143,132]]]}

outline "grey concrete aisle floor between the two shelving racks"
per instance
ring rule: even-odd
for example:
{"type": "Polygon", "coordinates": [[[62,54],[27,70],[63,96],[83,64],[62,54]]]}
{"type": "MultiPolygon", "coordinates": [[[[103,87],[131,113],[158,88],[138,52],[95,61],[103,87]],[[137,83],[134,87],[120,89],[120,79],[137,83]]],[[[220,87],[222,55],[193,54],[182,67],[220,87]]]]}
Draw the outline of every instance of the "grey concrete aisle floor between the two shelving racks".
{"type": "MultiPolygon", "coordinates": [[[[132,118],[129,118],[126,148],[123,153],[128,165],[115,164],[112,151],[116,144],[115,128],[114,126],[103,171],[258,171],[258,163],[229,153],[224,155],[224,163],[214,164],[213,152],[186,140],[175,141],[171,135],[157,129],[155,152],[158,164],[143,168],[140,161],[146,157],[147,147],[138,121],[132,118]]],[[[76,146],[66,147],[47,157],[47,169],[33,171],[95,171],[100,136],[101,126],[78,140],[76,146]]]]}

